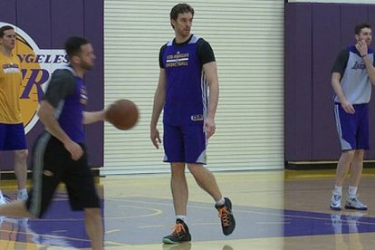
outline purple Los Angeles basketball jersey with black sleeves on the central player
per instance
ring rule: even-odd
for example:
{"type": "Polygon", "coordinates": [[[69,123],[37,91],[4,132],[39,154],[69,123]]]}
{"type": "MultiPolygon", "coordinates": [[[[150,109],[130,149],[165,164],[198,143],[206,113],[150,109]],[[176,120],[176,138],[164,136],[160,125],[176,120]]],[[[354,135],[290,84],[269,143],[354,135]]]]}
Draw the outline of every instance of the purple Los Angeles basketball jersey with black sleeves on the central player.
{"type": "Polygon", "coordinates": [[[159,64],[167,75],[163,121],[169,125],[203,122],[207,115],[207,79],[202,65],[215,61],[209,43],[197,35],[185,43],[169,41],[160,49],[159,64]]]}

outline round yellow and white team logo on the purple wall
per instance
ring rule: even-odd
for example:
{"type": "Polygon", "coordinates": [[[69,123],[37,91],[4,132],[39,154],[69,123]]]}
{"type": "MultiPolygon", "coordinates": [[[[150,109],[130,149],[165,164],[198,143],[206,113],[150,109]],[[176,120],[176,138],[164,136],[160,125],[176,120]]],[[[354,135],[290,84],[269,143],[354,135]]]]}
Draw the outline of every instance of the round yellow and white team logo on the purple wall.
{"type": "Polygon", "coordinates": [[[4,25],[13,26],[16,34],[14,52],[21,62],[23,81],[20,102],[27,134],[38,121],[38,101],[43,97],[51,74],[67,63],[66,53],[62,49],[40,49],[21,28],[0,22],[0,27],[4,25]]]}

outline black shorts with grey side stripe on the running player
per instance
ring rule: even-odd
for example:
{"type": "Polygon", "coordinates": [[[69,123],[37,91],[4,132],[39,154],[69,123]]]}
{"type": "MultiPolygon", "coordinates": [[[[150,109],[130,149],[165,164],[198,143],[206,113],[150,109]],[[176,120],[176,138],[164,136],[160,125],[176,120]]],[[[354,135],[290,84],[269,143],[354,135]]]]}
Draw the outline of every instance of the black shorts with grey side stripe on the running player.
{"type": "Polygon", "coordinates": [[[37,217],[43,216],[53,194],[63,182],[67,188],[72,210],[100,207],[86,149],[81,159],[73,160],[63,143],[49,133],[43,133],[34,144],[33,187],[26,202],[27,209],[37,217]]]}

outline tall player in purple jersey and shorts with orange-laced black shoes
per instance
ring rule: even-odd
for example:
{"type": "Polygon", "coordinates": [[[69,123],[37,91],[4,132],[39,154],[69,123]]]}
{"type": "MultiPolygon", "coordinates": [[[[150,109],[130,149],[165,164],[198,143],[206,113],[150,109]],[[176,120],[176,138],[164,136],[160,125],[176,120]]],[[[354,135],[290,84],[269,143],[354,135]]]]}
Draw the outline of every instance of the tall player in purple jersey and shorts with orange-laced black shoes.
{"type": "Polygon", "coordinates": [[[159,83],[150,122],[150,138],[159,149],[161,139],[157,124],[164,108],[164,161],[170,163],[176,213],[173,232],[163,238],[166,244],[191,240],[186,224],[186,166],[199,187],[216,201],[223,233],[230,235],[236,226],[231,201],[222,196],[214,175],[203,166],[206,164],[207,139],[216,129],[218,80],[211,46],[197,35],[190,34],[193,16],[194,9],[187,4],[175,5],[170,12],[175,38],[160,49],[159,83]]]}

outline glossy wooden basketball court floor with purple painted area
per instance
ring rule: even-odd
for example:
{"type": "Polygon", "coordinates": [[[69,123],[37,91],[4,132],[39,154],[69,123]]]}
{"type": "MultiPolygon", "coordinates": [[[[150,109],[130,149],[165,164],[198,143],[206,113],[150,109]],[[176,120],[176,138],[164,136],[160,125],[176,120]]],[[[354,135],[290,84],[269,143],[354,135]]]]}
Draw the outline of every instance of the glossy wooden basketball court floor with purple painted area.
{"type": "MultiPolygon", "coordinates": [[[[359,189],[367,212],[329,209],[332,171],[250,171],[215,173],[233,202],[236,230],[221,233],[213,201],[188,176],[187,225],[191,243],[163,245],[174,212],[168,175],[100,178],[106,249],[375,249],[375,175],[359,189]]],[[[14,182],[3,181],[14,197],[14,182]]],[[[347,192],[346,188],[343,190],[347,192]]],[[[0,249],[87,249],[82,213],[72,212],[64,188],[43,219],[3,217],[0,249]]]]}

